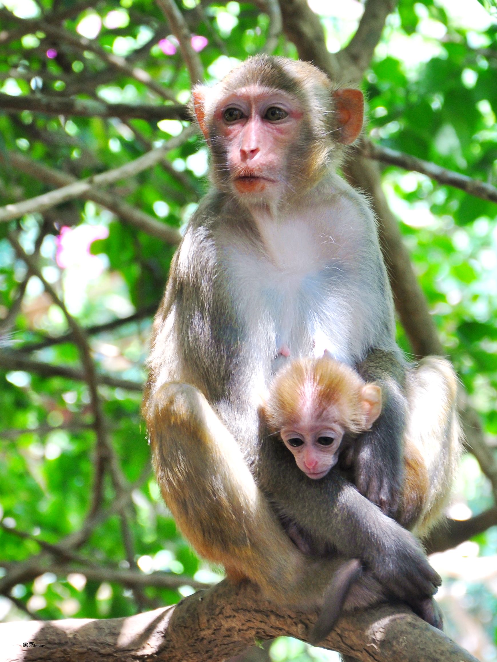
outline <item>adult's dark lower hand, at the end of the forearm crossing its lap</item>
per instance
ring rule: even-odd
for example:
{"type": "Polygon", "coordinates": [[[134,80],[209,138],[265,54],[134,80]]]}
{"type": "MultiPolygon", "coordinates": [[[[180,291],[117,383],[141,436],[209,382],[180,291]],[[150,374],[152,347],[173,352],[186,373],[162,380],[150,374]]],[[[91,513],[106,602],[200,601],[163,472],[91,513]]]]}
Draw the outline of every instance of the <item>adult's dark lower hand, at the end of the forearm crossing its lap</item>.
{"type": "Polygon", "coordinates": [[[392,524],[392,536],[382,545],[382,553],[368,559],[368,565],[390,594],[408,602],[419,613],[419,604],[437,591],[441,577],[429,565],[414,536],[388,521],[392,524]]]}

